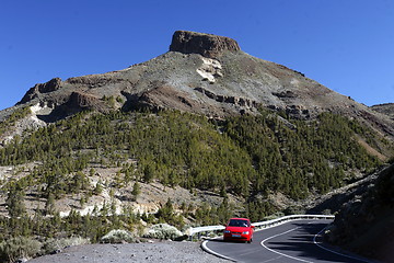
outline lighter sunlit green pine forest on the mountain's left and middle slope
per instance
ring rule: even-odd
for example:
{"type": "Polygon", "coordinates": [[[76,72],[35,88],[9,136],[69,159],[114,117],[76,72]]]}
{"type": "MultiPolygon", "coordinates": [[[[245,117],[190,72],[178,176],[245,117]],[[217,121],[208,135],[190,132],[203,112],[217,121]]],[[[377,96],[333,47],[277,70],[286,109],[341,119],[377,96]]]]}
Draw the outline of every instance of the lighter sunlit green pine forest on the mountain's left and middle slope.
{"type": "Polygon", "coordinates": [[[0,149],[2,165],[43,162],[32,174],[46,185],[43,195],[51,193],[56,198],[84,191],[78,172],[88,163],[116,167],[127,159],[138,162],[125,170],[123,185],[131,179],[159,180],[169,186],[247,196],[248,179],[255,172],[247,152],[205,117],[177,112],[79,114],[0,149]]]}

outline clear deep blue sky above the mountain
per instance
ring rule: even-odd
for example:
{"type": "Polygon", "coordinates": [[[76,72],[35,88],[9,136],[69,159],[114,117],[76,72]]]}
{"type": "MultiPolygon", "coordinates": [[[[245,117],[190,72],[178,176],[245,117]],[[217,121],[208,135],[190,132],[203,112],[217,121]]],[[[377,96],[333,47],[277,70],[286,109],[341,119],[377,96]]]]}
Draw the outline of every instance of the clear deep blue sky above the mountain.
{"type": "Polygon", "coordinates": [[[392,0],[1,0],[0,110],[54,77],[166,53],[176,30],[232,37],[367,105],[394,102],[392,0]]]}

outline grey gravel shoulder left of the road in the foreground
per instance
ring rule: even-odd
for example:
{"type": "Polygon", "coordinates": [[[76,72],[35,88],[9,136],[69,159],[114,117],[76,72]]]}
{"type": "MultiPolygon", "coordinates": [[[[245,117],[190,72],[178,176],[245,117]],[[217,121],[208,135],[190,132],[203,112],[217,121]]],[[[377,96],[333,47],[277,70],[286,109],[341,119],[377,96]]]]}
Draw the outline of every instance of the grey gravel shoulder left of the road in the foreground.
{"type": "Polygon", "coordinates": [[[44,255],[30,263],[108,262],[229,262],[204,252],[200,242],[153,241],[125,244],[86,244],[44,255]]]}

